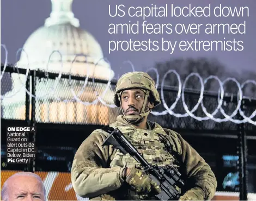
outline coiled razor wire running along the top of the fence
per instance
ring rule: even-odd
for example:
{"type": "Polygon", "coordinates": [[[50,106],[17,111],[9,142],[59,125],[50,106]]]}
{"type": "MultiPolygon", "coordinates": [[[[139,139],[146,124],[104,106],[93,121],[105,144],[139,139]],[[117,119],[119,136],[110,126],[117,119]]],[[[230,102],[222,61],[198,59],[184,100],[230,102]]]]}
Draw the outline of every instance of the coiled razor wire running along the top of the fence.
{"type": "MultiPolygon", "coordinates": [[[[7,48],[5,47],[5,45],[1,44],[1,47],[4,48],[5,50],[5,62],[4,62],[4,67],[3,67],[3,72],[1,74],[1,80],[3,78],[3,75],[4,75],[4,72],[6,70],[6,67],[7,67],[7,61],[8,61],[8,50],[7,48]]],[[[60,53],[59,51],[53,51],[51,53],[51,55],[49,56],[49,59],[48,59],[48,62],[47,62],[47,65],[46,65],[46,72],[45,72],[45,76],[47,79],[48,78],[48,65],[50,64],[50,60],[51,60],[51,56],[54,54],[54,53],[58,53],[60,55],[60,70],[59,70],[59,75],[58,77],[55,79],[54,81],[54,84],[53,86],[51,87],[51,90],[49,90],[47,92],[47,94],[44,94],[44,95],[41,95],[41,96],[35,96],[33,95],[31,92],[29,92],[27,89],[26,89],[26,80],[27,80],[27,77],[28,77],[28,72],[29,72],[29,58],[28,58],[28,55],[26,53],[26,51],[23,49],[23,48],[20,48],[18,51],[17,51],[17,54],[16,54],[16,61],[17,61],[17,55],[19,54],[19,52],[25,52],[26,56],[27,56],[27,68],[26,68],[26,75],[25,75],[25,82],[21,80],[21,77],[20,77],[20,72],[19,72],[19,66],[17,66],[17,62],[16,64],[13,66],[13,68],[17,70],[17,74],[18,74],[18,77],[19,77],[19,81],[21,83],[21,87],[19,90],[17,90],[15,93],[13,93],[12,95],[10,96],[7,96],[7,95],[1,95],[1,99],[3,98],[11,98],[11,97],[14,97],[21,89],[22,87],[25,88],[26,90],[26,93],[28,93],[29,96],[35,98],[35,99],[43,99],[45,98],[45,96],[48,96],[48,95],[51,95],[51,94],[54,94],[56,95],[56,93],[54,93],[57,89],[57,85],[59,83],[59,80],[61,79],[62,77],[62,73],[63,73],[63,56],[62,56],[62,53],[60,53]]],[[[69,71],[69,84],[71,85],[71,70],[72,70],[72,67],[73,67],[73,64],[77,58],[77,56],[84,56],[86,58],[86,64],[88,64],[87,62],[87,55],[82,55],[82,54],[79,54],[79,55],[76,55],[74,60],[71,62],[71,67],[70,67],[70,71],[69,71]]],[[[124,63],[128,63],[131,65],[131,68],[132,68],[132,71],[134,72],[135,71],[135,67],[133,66],[132,62],[130,60],[128,61],[124,61],[124,63]]],[[[22,67],[24,68],[24,67],[22,67]]],[[[121,67],[120,67],[121,69],[121,67]]],[[[93,72],[93,91],[96,95],[96,99],[92,102],[86,102],[86,101],[82,101],[80,99],[80,96],[83,94],[83,92],[86,90],[86,86],[88,84],[88,78],[89,78],[89,73],[90,73],[90,68],[89,66],[87,67],[87,75],[86,75],[86,79],[84,80],[84,84],[81,88],[81,90],[78,92],[78,95],[76,95],[75,93],[75,90],[74,88],[71,87],[71,93],[73,95],[73,97],[71,99],[60,99],[59,97],[56,97],[58,101],[62,101],[62,102],[73,102],[73,101],[77,101],[83,105],[93,105],[93,104],[97,104],[99,101],[105,105],[105,106],[108,106],[109,108],[116,108],[117,106],[115,106],[114,104],[107,104],[103,98],[105,97],[106,93],[107,93],[107,90],[109,89],[110,85],[111,85],[111,80],[112,80],[112,77],[111,77],[111,63],[107,60],[107,58],[101,58],[99,59],[98,61],[94,62],[94,72],[93,72]],[[109,79],[108,79],[108,82],[107,82],[107,85],[106,85],[106,88],[105,90],[103,90],[102,94],[100,95],[99,92],[97,92],[95,90],[95,80],[94,80],[94,73],[95,73],[95,68],[97,67],[97,65],[99,65],[99,62],[101,60],[105,60],[108,64],[109,64],[109,67],[110,67],[110,70],[109,70],[109,79]]],[[[157,71],[156,68],[152,67],[152,68],[149,68],[146,72],[149,72],[149,71],[154,71],[156,73],[156,87],[159,86],[159,81],[160,81],[160,75],[159,75],[159,72],[157,71]]],[[[119,78],[119,74],[118,74],[118,78],[119,78]]],[[[161,111],[161,112],[157,112],[157,111],[151,111],[151,114],[155,115],[155,116],[160,116],[160,115],[173,115],[175,117],[192,117],[198,121],[205,121],[205,120],[212,120],[212,121],[215,121],[215,122],[227,122],[227,121],[231,121],[233,123],[236,123],[236,124],[240,124],[240,123],[251,123],[253,125],[256,125],[256,121],[253,121],[252,118],[254,118],[256,116],[256,109],[255,111],[252,112],[252,114],[250,116],[246,116],[245,113],[242,111],[241,109],[241,104],[242,104],[242,99],[244,99],[245,97],[243,96],[243,92],[242,92],[242,89],[245,87],[245,85],[247,84],[254,84],[256,86],[256,81],[255,80],[246,80],[245,82],[243,82],[242,84],[239,83],[239,81],[237,81],[235,78],[227,78],[225,79],[224,81],[221,81],[217,76],[209,76],[208,78],[204,79],[198,74],[198,73],[190,73],[188,74],[188,76],[185,78],[184,80],[184,83],[182,85],[181,83],[181,78],[180,78],[180,75],[178,72],[176,72],[175,70],[168,70],[166,73],[164,73],[163,75],[163,79],[162,79],[162,82],[161,82],[161,87],[160,87],[160,92],[161,92],[161,100],[162,100],[162,104],[164,106],[164,108],[166,110],[164,111],[161,111]],[[166,81],[166,78],[168,76],[168,74],[170,73],[173,73],[175,74],[176,78],[178,79],[178,94],[176,96],[176,99],[175,99],[175,102],[170,105],[170,107],[168,107],[166,101],[164,100],[164,91],[163,91],[163,88],[164,88],[164,83],[166,81]],[[193,109],[192,110],[189,110],[188,109],[188,106],[187,104],[185,103],[185,88],[186,88],[186,83],[187,81],[191,78],[191,77],[197,77],[200,81],[200,92],[199,92],[199,99],[198,99],[198,102],[196,105],[194,105],[193,109]],[[210,79],[215,79],[217,80],[218,84],[220,85],[220,89],[218,90],[218,105],[217,105],[217,108],[214,110],[214,112],[212,112],[211,114],[206,110],[204,104],[203,104],[203,98],[204,98],[204,92],[205,92],[205,84],[208,83],[208,81],[210,79]],[[238,87],[238,92],[237,92],[237,106],[236,106],[236,109],[233,111],[233,113],[231,115],[227,115],[224,111],[224,109],[222,108],[222,104],[223,104],[223,100],[224,100],[224,84],[227,83],[227,81],[233,81],[237,87],[238,87]],[[180,100],[181,98],[181,101],[182,101],[182,105],[185,109],[185,113],[184,114],[178,114],[178,113],[175,113],[173,110],[175,109],[175,106],[176,104],[178,103],[178,101],[180,100]],[[199,116],[196,116],[194,115],[193,113],[198,109],[199,105],[202,106],[202,109],[203,109],[203,112],[204,114],[206,115],[205,117],[199,117],[199,116]],[[220,111],[221,114],[224,116],[224,118],[216,118],[214,117],[217,112],[220,111]],[[235,117],[237,114],[240,114],[241,117],[243,118],[242,120],[236,120],[234,119],[233,117],[235,117]]]]}

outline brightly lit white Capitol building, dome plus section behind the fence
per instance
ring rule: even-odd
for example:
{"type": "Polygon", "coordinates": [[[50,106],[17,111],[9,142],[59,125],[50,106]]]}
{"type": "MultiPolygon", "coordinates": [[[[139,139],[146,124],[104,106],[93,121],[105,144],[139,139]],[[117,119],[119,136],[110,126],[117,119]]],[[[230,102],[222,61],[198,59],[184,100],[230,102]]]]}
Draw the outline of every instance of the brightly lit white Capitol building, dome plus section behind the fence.
{"type": "MultiPolygon", "coordinates": [[[[28,37],[17,67],[84,78],[61,78],[57,81],[37,77],[36,122],[106,125],[112,120],[113,114],[110,113],[114,109],[100,102],[88,104],[97,98],[95,91],[102,95],[106,84],[88,81],[85,87],[83,85],[87,75],[90,78],[109,80],[114,77],[114,72],[103,59],[99,42],[92,34],[80,28],[80,21],[74,17],[71,9],[72,1],[51,0],[50,17],[45,20],[44,26],[28,37]]],[[[3,118],[25,120],[26,90],[21,87],[21,83],[25,83],[25,75],[20,74],[19,78],[18,74],[12,73],[11,77],[13,90],[6,93],[2,100],[3,118]]],[[[113,104],[113,97],[113,90],[108,89],[102,99],[107,104],[113,104]]]]}

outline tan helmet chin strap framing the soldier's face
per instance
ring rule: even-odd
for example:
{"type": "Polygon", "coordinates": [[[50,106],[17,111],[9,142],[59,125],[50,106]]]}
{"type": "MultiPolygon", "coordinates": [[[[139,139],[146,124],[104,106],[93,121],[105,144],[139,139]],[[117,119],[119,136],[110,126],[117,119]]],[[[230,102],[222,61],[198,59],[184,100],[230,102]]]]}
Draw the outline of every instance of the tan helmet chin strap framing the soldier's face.
{"type": "MultiPolygon", "coordinates": [[[[143,90],[144,91],[144,90],[143,90]]],[[[121,103],[121,99],[120,99],[120,94],[118,93],[118,99],[119,99],[119,102],[120,102],[120,106],[121,106],[121,111],[123,112],[123,115],[124,115],[124,118],[129,121],[129,120],[134,120],[136,118],[135,121],[129,121],[130,123],[137,123],[139,122],[140,120],[142,120],[143,117],[145,116],[148,116],[149,113],[151,112],[151,110],[145,112],[145,108],[147,106],[147,102],[148,102],[148,98],[149,98],[149,93],[150,91],[145,91],[145,97],[144,97],[144,102],[143,102],[143,106],[142,106],[142,109],[141,109],[141,114],[139,115],[125,115],[124,113],[124,110],[123,110],[123,107],[122,107],[122,103],[121,103]]]]}

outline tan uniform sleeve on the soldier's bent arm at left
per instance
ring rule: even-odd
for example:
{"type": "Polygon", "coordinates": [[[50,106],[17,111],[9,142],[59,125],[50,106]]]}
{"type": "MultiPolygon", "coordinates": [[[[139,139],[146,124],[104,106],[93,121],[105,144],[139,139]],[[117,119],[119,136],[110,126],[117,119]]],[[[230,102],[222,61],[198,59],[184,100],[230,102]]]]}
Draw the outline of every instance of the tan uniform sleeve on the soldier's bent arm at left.
{"type": "Polygon", "coordinates": [[[81,197],[96,197],[118,189],[123,183],[121,167],[107,167],[113,154],[109,146],[102,148],[106,136],[94,131],[78,148],[71,168],[71,181],[81,197]]]}

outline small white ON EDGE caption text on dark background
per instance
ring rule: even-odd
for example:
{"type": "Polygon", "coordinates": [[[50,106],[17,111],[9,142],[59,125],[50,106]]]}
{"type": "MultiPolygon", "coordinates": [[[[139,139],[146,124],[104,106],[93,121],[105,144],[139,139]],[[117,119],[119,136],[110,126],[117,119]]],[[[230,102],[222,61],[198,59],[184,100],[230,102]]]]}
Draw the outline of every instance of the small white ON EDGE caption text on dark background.
{"type": "Polygon", "coordinates": [[[35,159],[37,148],[29,140],[31,133],[36,133],[36,127],[7,127],[7,164],[28,164],[35,159]]]}

